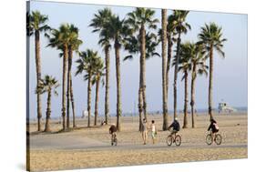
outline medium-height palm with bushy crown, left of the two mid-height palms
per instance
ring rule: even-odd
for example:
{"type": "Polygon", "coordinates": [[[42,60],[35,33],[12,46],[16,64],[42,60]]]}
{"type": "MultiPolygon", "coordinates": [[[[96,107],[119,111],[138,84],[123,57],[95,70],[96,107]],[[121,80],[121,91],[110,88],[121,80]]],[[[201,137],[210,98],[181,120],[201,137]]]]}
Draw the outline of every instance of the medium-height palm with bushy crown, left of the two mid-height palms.
{"type": "Polygon", "coordinates": [[[87,126],[90,126],[90,116],[91,116],[91,85],[92,85],[92,76],[95,72],[95,66],[97,66],[98,58],[97,52],[87,49],[80,53],[80,58],[77,60],[77,72],[78,74],[83,74],[87,72],[84,76],[84,79],[88,81],[87,84],[87,113],[88,113],[88,123],[87,126]]]}

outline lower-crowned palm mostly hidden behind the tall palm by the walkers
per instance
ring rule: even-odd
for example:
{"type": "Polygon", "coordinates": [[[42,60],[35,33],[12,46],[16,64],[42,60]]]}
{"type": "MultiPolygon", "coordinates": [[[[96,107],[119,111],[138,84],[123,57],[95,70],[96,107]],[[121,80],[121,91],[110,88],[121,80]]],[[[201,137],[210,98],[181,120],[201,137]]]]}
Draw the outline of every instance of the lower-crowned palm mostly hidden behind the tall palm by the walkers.
{"type": "MultiPolygon", "coordinates": [[[[159,40],[157,35],[154,33],[149,33],[147,32],[146,34],[146,59],[149,59],[152,56],[160,56],[159,53],[156,51],[157,46],[159,45],[159,40]]],[[[137,55],[140,52],[140,39],[139,35],[128,35],[126,38],[126,43],[125,43],[125,50],[128,50],[128,53],[130,55],[125,56],[124,61],[131,60],[133,59],[133,55],[137,55]]],[[[139,91],[141,91],[139,89],[139,91]]],[[[141,94],[139,92],[139,94],[141,94]]],[[[142,94],[141,94],[142,95],[142,94]]],[[[138,96],[138,102],[142,102],[143,98],[142,96],[138,96]]],[[[139,108],[139,126],[138,129],[139,131],[142,129],[142,106],[139,108]]]]}

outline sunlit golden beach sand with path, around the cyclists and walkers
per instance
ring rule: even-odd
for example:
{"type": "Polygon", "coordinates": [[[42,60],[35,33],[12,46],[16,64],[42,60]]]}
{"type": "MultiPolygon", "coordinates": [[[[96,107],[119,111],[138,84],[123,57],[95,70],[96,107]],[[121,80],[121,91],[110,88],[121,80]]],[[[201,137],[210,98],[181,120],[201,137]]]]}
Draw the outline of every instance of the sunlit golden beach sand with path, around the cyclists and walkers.
{"type": "MultiPolygon", "coordinates": [[[[179,116],[182,126],[183,116],[179,116]]],[[[209,116],[196,116],[196,128],[180,130],[180,147],[166,144],[169,131],[162,131],[162,116],[148,116],[148,123],[154,119],[159,129],[158,143],[153,145],[150,135],[148,144],[142,145],[138,132],[138,117],[122,117],[122,131],[118,133],[118,146],[110,146],[109,126],[87,128],[86,119],[77,119],[77,129],[57,133],[61,124],[52,121],[53,133],[36,133],[36,123],[30,130],[30,169],[56,170],[87,167],[115,167],[159,163],[246,158],[248,156],[248,116],[247,114],[215,115],[220,126],[222,143],[207,146],[205,136],[209,126],[209,116]]],[[[172,120],[170,116],[169,121],[172,120]]],[[[93,122],[94,120],[92,120],[93,122]]],[[[115,118],[111,118],[111,123],[115,118]]],[[[72,123],[71,123],[72,124],[72,123]]],[[[93,125],[93,123],[92,123],[93,125]]]]}

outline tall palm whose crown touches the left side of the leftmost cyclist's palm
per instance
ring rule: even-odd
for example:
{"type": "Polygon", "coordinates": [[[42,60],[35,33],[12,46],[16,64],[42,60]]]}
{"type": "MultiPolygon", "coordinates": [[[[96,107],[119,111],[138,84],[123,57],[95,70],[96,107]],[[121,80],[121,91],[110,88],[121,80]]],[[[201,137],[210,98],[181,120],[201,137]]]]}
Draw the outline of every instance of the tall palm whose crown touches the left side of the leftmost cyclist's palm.
{"type": "Polygon", "coordinates": [[[112,12],[109,8],[99,10],[94,18],[91,20],[89,26],[94,27],[93,33],[99,33],[98,44],[103,47],[105,52],[105,64],[106,64],[106,79],[105,79],[105,122],[108,124],[109,116],[109,72],[110,72],[110,33],[107,29],[112,12]]]}

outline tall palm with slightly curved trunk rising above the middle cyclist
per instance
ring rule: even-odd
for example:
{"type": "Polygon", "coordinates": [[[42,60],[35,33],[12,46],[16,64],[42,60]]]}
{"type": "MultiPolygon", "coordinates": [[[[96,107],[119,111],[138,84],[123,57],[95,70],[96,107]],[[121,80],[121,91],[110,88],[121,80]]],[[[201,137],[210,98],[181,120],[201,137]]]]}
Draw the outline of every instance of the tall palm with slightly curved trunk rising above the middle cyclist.
{"type": "MultiPolygon", "coordinates": [[[[173,21],[172,25],[175,26],[175,30],[178,33],[177,40],[177,52],[176,52],[176,61],[179,62],[180,56],[180,42],[181,42],[181,34],[186,34],[188,29],[190,29],[190,25],[186,22],[186,17],[189,14],[189,11],[181,11],[174,10],[173,15],[175,15],[175,21],[173,21]]],[[[177,117],[177,78],[178,78],[178,66],[179,63],[175,64],[174,68],[174,81],[173,81],[173,110],[174,110],[174,118],[177,117]]]]}

